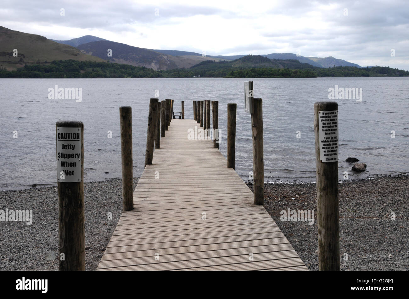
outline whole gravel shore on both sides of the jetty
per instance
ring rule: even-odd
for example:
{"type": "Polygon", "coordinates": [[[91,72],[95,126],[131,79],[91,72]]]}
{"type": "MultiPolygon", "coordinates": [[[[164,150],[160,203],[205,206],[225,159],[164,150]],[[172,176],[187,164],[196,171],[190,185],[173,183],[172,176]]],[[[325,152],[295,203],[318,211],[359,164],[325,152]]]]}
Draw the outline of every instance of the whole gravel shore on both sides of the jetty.
{"type": "MultiPolygon", "coordinates": [[[[121,179],[85,183],[84,189],[85,268],[95,270],[121,216],[121,179]]],[[[339,184],[341,270],[409,269],[408,194],[407,175],[339,184]]],[[[0,222],[0,270],[58,270],[52,259],[58,253],[57,188],[1,191],[0,202],[0,210],[33,210],[34,219],[31,225],[0,222]]],[[[306,266],[318,270],[315,184],[265,184],[265,207],[306,266]],[[287,208],[314,210],[314,224],[281,221],[287,208]]]]}

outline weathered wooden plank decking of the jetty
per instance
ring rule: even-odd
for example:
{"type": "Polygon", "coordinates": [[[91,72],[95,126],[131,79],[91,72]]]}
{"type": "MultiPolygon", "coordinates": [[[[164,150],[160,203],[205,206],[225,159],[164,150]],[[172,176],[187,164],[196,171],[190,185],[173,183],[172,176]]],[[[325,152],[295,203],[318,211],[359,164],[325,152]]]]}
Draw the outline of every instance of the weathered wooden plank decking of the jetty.
{"type": "Polygon", "coordinates": [[[197,125],[172,120],[97,270],[307,270],[213,141],[187,139],[197,125]]]}

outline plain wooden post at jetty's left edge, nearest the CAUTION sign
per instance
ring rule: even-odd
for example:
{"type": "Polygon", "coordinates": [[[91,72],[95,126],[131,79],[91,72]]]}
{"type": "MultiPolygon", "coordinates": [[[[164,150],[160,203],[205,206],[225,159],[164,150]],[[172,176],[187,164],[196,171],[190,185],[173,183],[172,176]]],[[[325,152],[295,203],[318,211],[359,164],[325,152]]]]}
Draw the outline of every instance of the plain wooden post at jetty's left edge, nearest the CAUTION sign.
{"type": "Polygon", "coordinates": [[[119,107],[122,159],[122,208],[133,209],[132,108],[119,107]]]}

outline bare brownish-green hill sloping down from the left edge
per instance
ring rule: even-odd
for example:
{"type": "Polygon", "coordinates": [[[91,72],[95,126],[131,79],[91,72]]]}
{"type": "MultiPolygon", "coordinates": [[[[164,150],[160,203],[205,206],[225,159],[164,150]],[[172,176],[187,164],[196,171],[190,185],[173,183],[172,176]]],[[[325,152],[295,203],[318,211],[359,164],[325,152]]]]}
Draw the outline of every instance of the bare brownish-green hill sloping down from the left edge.
{"type": "Polygon", "coordinates": [[[53,42],[41,35],[23,33],[0,26],[0,67],[16,70],[26,64],[43,64],[53,60],[103,61],[85,55],[66,44],[53,42]],[[17,57],[13,50],[17,49],[17,57]]]}

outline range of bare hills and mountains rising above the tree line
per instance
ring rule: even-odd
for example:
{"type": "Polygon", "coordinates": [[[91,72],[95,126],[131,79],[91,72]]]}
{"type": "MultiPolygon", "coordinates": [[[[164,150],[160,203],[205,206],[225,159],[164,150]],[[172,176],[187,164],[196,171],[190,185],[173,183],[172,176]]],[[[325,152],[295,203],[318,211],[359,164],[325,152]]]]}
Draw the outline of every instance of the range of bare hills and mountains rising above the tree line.
{"type": "MultiPolygon", "coordinates": [[[[145,49],[113,42],[93,35],[71,40],[52,40],[40,35],[13,31],[0,27],[0,66],[8,70],[25,64],[47,63],[52,60],[110,61],[133,66],[145,66],[154,70],[188,69],[204,61],[233,61],[243,55],[205,55],[189,51],[145,49]],[[13,50],[18,49],[18,56],[13,50]]],[[[270,67],[284,66],[283,60],[298,60],[301,66],[328,68],[333,66],[357,66],[332,56],[326,58],[304,57],[293,53],[271,53],[261,55],[268,60],[261,62],[270,67]],[[281,62],[274,62],[280,60],[281,62]]],[[[289,63],[294,65],[294,63],[289,63]]],[[[252,67],[249,65],[249,67],[252,67]]],[[[294,67],[296,67],[294,65],[294,67]]],[[[305,67],[303,67],[305,68],[305,67]]]]}

